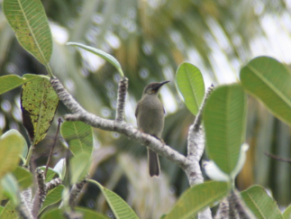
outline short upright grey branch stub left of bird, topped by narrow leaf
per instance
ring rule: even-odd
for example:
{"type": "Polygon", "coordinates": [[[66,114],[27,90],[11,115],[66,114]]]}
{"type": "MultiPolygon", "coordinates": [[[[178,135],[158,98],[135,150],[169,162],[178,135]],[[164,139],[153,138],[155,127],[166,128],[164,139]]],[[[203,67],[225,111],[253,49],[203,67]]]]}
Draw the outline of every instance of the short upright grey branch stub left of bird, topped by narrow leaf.
{"type": "Polygon", "coordinates": [[[124,121],[125,98],[128,88],[128,78],[121,78],[118,84],[118,94],[116,103],[116,121],[124,121]]]}

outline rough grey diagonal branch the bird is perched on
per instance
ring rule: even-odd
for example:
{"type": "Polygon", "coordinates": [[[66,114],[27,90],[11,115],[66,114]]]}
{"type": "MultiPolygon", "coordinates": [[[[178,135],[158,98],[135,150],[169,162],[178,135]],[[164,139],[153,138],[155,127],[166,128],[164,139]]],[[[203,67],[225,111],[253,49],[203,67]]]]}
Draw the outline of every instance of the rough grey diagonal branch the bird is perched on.
{"type": "Polygon", "coordinates": [[[184,155],[172,150],[170,147],[163,144],[150,134],[141,132],[125,122],[107,120],[96,116],[95,114],[87,113],[80,105],[77,104],[77,101],[69,95],[68,91],[61,85],[58,78],[52,78],[50,83],[58,94],[59,100],[62,101],[63,104],[74,113],[65,115],[65,120],[82,121],[101,130],[122,133],[133,141],[137,141],[142,145],[149,147],[152,151],[159,153],[160,156],[173,161],[182,169],[186,169],[188,166],[191,166],[190,162],[186,160],[184,155]]]}

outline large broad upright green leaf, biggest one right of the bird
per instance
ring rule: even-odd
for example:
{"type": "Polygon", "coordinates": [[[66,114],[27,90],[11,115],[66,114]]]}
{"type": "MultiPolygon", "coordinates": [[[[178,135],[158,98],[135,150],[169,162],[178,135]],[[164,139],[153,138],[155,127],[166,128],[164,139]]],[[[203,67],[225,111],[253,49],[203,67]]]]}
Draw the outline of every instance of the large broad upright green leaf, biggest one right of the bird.
{"type": "Polygon", "coordinates": [[[206,150],[210,160],[231,174],[245,137],[246,96],[241,86],[218,87],[205,104],[206,150]]]}

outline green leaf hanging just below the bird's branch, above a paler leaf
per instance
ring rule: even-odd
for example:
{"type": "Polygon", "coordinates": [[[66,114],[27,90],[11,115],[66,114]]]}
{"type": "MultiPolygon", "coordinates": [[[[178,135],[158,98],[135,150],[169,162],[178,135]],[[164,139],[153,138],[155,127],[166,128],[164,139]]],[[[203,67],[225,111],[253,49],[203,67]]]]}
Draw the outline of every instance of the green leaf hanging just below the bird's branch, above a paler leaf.
{"type": "Polygon", "coordinates": [[[93,151],[93,131],[90,125],[82,122],[65,122],[61,124],[60,133],[68,142],[69,150],[76,156],[78,153],[93,151]]]}

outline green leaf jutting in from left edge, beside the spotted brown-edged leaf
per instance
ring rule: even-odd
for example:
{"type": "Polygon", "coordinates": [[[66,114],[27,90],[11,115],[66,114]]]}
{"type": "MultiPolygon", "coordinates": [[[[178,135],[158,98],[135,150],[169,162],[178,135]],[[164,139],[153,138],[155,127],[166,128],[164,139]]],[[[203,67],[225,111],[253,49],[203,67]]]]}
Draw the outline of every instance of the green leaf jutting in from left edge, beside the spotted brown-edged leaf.
{"type": "Polygon", "coordinates": [[[0,95],[37,78],[40,78],[40,76],[32,74],[25,74],[23,77],[14,75],[0,77],[0,95]]]}

